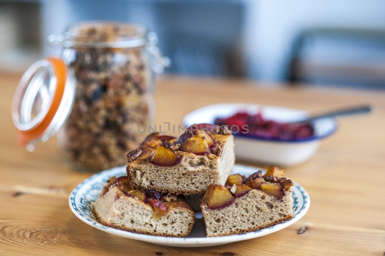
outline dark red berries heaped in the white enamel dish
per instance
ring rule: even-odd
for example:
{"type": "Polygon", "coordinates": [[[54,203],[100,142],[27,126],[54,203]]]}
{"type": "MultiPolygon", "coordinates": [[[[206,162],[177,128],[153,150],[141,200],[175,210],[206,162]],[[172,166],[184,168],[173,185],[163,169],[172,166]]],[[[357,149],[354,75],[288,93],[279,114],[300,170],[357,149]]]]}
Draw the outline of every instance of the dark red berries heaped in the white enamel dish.
{"type": "Polygon", "coordinates": [[[238,112],[227,118],[216,118],[214,124],[228,125],[229,127],[235,125],[239,129],[233,128],[232,131],[238,135],[246,135],[247,133],[247,135],[262,138],[296,140],[314,136],[314,127],[311,123],[291,124],[264,120],[261,113],[251,115],[246,112],[238,112]]]}

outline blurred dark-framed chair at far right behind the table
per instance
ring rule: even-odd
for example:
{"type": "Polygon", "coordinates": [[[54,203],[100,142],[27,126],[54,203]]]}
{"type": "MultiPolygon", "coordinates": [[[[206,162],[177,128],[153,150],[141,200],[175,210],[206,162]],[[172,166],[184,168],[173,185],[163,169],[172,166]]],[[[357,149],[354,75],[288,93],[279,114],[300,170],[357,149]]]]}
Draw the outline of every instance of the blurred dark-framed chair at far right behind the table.
{"type": "Polygon", "coordinates": [[[287,79],[293,83],[385,90],[385,31],[307,29],[292,49],[287,79]]]}

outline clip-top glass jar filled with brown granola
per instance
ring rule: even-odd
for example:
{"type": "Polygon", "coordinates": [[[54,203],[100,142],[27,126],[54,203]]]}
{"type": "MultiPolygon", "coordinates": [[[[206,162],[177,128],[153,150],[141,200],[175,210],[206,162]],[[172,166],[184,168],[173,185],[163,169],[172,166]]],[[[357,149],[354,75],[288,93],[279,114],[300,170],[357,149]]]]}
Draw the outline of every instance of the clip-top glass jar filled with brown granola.
{"type": "Polygon", "coordinates": [[[126,153],[146,136],[138,126],[153,121],[152,70],[169,65],[156,35],[143,25],[85,22],[48,41],[62,50],[67,80],[76,84],[72,110],[57,129],[60,154],[80,170],[126,164],[126,153]]]}

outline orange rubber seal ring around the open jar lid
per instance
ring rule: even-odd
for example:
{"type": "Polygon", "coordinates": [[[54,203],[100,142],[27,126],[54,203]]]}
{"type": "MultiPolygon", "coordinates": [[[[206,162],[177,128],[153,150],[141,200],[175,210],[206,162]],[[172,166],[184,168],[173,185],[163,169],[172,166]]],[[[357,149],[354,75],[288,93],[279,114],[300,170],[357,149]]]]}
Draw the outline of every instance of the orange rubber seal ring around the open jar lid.
{"type": "Polygon", "coordinates": [[[65,82],[67,81],[67,66],[59,58],[47,57],[45,60],[48,60],[52,64],[57,81],[55,92],[52,97],[52,103],[48,109],[47,115],[45,115],[42,122],[39,123],[39,125],[37,125],[35,128],[27,131],[21,131],[17,129],[17,143],[20,146],[24,146],[28,141],[39,138],[44,133],[44,131],[52,122],[52,119],[54,118],[56,111],[62,102],[65,82]]]}

